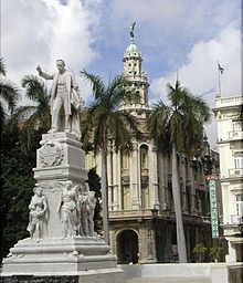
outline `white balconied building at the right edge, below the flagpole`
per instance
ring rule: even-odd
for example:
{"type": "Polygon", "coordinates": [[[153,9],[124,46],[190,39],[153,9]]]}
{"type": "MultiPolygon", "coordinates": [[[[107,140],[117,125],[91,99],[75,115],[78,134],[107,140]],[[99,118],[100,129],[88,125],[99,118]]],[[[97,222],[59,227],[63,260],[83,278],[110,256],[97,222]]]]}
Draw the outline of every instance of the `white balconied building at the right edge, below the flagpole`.
{"type": "Polygon", "coordinates": [[[242,96],[216,96],[220,181],[223,231],[229,241],[228,262],[243,261],[243,129],[240,122],[242,96]]]}

